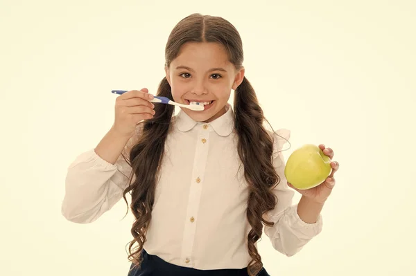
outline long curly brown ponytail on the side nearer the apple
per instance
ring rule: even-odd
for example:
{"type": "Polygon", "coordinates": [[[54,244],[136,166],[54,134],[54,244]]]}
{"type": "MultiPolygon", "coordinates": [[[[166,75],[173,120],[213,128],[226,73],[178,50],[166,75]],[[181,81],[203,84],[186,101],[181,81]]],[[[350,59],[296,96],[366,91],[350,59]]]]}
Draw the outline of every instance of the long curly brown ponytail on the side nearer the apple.
{"type": "Polygon", "coordinates": [[[245,180],[249,186],[247,218],[252,230],[248,234],[248,252],[252,260],[248,265],[249,275],[257,275],[263,268],[261,256],[255,243],[261,238],[263,214],[273,210],[277,198],[271,192],[280,180],[272,165],[273,140],[263,127],[263,110],[257,95],[247,80],[237,87],[234,94],[235,129],[239,136],[238,151],[244,166],[245,180]]]}

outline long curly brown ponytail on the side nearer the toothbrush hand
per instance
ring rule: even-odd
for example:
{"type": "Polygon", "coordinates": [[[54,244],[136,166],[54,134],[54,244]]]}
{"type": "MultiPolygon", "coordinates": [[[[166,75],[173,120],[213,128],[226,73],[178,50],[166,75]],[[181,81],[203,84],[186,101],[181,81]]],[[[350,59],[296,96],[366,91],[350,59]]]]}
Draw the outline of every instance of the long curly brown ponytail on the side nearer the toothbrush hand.
{"type": "MultiPolygon", "coordinates": [[[[166,77],[159,83],[156,95],[172,99],[171,86],[166,77]]],[[[123,199],[128,204],[125,194],[131,191],[130,209],[135,215],[130,231],[133,239],[128,245],[128,259],[135,264],[131,269],[141,265],[141,252],[155,201],[156,179],[174,110],[175,107],[170,104],[155,104],[155,117],[142,122],[144,127],[141,136],[130,151],[132,173],[136,177],[133,183],[133,178],[130,178],[130,185],[123,191],[123,199]],[[135,243],[137,246],[133,248],[135,243]]]]}

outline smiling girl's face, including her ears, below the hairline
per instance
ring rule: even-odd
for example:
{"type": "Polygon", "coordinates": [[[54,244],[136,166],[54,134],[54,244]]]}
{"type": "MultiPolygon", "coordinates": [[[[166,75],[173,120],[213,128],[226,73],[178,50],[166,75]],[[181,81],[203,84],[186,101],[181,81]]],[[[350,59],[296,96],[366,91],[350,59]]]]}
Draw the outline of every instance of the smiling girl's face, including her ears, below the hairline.
{"type": "Polygon", "coordinates": [[[175,102],[213,101],[204,111],[181,107],[198,122],[211,122],[222,116],[231,90],[235,90],[244,77],[244,68],[236,70],[221,44],[205,42],[184,44],[165,71],[175,102]]]}

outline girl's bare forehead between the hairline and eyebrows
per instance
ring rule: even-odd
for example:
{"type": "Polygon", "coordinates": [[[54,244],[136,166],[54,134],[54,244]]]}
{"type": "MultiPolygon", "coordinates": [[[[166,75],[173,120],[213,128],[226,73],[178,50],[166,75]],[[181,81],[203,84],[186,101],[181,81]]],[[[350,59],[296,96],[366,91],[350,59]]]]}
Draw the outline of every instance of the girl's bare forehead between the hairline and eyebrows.
{"type": "Polygon", "coordinates": [[[225,47],[215,42],[188,42],[182,45],[179,55],[173,59],[172,64],[191,68],[232,65],[225,47]]]}

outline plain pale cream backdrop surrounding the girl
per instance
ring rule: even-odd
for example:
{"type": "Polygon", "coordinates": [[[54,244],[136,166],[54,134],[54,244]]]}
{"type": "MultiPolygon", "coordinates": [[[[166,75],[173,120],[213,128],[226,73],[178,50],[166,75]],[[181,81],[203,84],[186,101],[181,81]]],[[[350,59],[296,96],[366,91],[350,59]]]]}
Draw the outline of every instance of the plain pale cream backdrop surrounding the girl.
{"type": "Polygon", "coordinates": [[[127,275],[132,215],[66,221],[67,166],[110,129],[112,89],[156,93],[193,12],[241,33],[286,160],[324,143],[340,163],[318,237],[288,258],[263,236],[270,275],[416,275],[415,1],[261,0],[0,2],[0,275],[127,275]]]}

